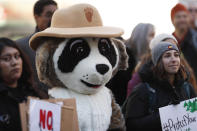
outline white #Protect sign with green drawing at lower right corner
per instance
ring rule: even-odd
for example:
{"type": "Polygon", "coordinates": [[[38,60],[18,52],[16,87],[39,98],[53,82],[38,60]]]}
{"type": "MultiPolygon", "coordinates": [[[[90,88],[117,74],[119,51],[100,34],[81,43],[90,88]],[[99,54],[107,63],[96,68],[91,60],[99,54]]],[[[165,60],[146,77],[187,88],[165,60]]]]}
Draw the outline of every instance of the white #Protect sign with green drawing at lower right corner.
{"type": "Polygon", "coordinates": [[[197,99],[159,108],[162,131],[197,131],[197,99]]]}

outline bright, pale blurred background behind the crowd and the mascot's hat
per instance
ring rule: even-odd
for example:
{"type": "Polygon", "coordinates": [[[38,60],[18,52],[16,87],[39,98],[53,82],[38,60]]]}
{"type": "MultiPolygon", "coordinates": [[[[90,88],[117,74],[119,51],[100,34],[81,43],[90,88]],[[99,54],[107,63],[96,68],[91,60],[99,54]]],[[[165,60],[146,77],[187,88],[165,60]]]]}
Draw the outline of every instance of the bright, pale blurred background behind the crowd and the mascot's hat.
{"type": "MultiPolygon", "coordinates": [[[[36,0],[0,0],[0,37],[18,39],[34,31],[33,5],[36,0]]],[[[156,33],[171,33],[170,10],[178,0],[56,0],[58,7],[75,3],[96,6],[104,25],[125,30],[127,39],[138,23],[152,23],[156,33]]]]}

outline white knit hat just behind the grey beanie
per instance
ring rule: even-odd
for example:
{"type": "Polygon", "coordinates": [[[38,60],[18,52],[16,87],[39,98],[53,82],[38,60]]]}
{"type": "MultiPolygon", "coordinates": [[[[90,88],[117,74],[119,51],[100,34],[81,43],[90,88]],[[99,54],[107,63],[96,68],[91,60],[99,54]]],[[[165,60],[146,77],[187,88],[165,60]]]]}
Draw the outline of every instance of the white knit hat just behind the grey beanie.
{"type": "Polygon", "coordinates": [[[156,46],[159,42],[165,39],[173,39],[176,43],[178,43],[178,41],[173,35],[163,33],[163,34],[157,35],[155,38],[151,40],[149,44],[149,48],[152,50],[154,46],[156,46]]]}

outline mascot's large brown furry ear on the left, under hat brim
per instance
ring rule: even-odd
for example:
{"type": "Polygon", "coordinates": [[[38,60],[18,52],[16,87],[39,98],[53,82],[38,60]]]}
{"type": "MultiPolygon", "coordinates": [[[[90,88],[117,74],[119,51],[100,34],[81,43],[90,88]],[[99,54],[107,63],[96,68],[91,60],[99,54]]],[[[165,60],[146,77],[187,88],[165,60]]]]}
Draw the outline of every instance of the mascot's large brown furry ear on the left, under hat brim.
{"type": "Polygon", "coordinates": [[[54,70],[53,55],[58,45],[65,39],[43,38],[43,43],[36,50],[36,70],[41,82],[49,87],[64,85],[58,80],[54,70]]]}

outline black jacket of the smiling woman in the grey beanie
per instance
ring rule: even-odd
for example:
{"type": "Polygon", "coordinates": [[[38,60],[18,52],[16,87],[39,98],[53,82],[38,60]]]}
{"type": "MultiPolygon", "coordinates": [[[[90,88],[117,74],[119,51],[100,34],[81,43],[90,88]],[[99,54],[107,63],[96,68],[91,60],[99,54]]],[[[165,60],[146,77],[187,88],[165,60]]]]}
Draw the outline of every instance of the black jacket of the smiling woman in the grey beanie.
{"type": "Polygon", "coordinates": [[[193,87],[190,86],[190,96],[182,87],[185,80],[179,80],[173,88],[167,81],[158,80],[151,71],[151,61],[140,69],[143,83],[139,84],[127,99],[125,107],[126,127],[128,131],[161,131],[159,108],[195,97],[193,87]],[[149,93],[145,83],[156,91],[156,101],[153,112],[150,112],[149,93]]]}

